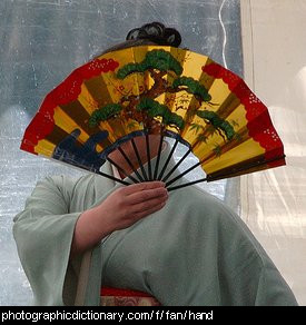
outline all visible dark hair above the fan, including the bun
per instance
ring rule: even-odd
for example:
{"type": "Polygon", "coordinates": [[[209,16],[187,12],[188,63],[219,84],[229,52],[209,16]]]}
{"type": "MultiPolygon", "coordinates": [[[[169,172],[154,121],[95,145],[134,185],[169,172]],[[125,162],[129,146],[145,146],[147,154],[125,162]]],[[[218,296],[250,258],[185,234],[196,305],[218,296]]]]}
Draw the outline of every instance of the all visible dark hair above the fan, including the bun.
{"type": "Polygon", "coordinates": [[[102,51],[101,55],[146,45],[170,46],[178,48],[180,42],[180,33],[176,29],[166,28],[164,23],[154,21],[139,28],[134,28],[128,32],[125,42],[108,48],[107,50],[102,51]]]}

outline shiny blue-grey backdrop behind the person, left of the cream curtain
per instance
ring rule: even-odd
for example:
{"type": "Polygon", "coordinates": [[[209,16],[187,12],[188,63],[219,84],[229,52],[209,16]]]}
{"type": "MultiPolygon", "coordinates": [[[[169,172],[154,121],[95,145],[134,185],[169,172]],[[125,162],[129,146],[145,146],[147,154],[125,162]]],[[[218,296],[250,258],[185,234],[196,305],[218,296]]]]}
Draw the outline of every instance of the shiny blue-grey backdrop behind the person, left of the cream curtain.
{"type": "MultiPolygon", "coordinates": [[[[31,303],[11,234],[13,216],[38,179],[79,175],[19,150],[24,128],[43,97],[71,70],[122,41],[128,30],[156,20],[177,28],[182,47],[208,55],[241,76],[239,14],[238,0],[0,1],[0,305],[31,303]]],[[[190,158],[187,164],[191,162],[190,158]]],[[[203,187],[237,210],[238,184],[234,179],[203,187]]]]}

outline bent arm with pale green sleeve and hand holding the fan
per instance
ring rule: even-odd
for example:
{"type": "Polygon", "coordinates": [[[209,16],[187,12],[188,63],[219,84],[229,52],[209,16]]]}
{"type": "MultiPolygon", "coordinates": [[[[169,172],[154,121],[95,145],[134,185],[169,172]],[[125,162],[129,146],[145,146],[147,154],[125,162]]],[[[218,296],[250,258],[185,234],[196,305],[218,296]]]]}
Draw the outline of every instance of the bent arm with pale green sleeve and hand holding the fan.
{"type": "Polygon", "coordinates": [[[70,213],[71,188],[63,178],[38,183],[14,218],[18,254],[39,305],[63,305],[69,260],[160,209],[168,197],[160,181],[137,184],[118,188],[96,207],[70,213]]]}

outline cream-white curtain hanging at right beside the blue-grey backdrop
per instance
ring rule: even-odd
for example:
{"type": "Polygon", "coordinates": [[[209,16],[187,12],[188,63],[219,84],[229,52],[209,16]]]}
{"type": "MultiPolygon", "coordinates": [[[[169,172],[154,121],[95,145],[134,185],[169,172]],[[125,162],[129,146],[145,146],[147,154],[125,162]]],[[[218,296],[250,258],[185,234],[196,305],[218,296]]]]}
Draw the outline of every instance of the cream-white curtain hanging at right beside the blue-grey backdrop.
{"type": "Polygon", "coordinates": [[[306,305],[306,1],[240,3],[245,79],[287,156],[285,167],[240,178],[241,217],[306,305]]]}

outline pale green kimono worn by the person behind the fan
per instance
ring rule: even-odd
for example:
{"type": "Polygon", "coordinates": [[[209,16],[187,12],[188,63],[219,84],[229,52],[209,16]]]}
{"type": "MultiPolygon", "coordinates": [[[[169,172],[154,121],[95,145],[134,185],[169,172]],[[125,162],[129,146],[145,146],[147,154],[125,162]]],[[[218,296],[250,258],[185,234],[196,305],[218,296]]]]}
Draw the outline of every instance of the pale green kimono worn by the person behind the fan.
{"type": "Polygon", "coordinates": [[[162,305],[297,304],[241,219],[195,186],[69,262],[78,217],[117,187],[92,175],[38,183],[13,226],[34,304],[99,305],[101,282],[148,292],[162,305]]]}

